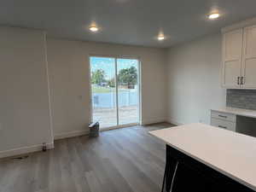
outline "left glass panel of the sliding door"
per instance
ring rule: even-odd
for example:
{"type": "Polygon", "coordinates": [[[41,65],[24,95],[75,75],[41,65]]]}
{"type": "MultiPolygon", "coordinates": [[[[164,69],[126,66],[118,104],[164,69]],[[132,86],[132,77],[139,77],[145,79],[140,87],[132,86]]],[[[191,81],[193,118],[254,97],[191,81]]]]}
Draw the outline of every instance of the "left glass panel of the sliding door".
{"type": "Polygon", "coordinates": [[[115,66],[114,58],[90,57],[92,120],[99,121],[100,128],[118,125],[115,66]]]}

